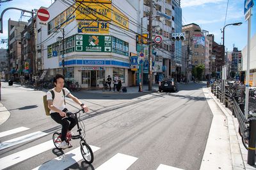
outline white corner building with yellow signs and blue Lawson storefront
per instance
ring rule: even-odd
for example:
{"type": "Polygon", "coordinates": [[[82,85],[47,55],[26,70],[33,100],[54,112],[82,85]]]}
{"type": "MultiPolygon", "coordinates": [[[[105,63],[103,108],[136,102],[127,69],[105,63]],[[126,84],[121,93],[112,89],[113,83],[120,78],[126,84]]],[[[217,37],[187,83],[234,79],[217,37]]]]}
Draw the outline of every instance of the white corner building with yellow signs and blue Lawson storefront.
{"type": "Polygon", "coordinates": [[[129,21],[137,17],[131,4],[55,1],[47,10],[47,25],[36,21],[36,50],[48,74],[64,70],[68,80],[77,81],[83,88],[102,87],[108,75],[118,75],[122,85],[128,85],[129,57],[136,53],[136,34],[132,30],[139,25],[129,21]]]}

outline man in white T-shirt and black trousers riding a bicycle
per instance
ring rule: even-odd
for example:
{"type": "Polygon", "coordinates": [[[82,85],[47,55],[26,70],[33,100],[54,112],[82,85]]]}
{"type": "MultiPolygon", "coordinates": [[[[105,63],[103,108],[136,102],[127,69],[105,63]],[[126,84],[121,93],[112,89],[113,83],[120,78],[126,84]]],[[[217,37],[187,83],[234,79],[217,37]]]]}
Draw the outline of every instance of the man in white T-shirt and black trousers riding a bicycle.
{"type": "Polygon", "coordinates": [[[54,77],[54,99],[52,100],[52,92],[47,92],[48,108],[51,110],[51,118],[62,125],[61,129],[61,145],[60,148],[68,148],[65,141],[67,134],[71,134],[72,128],[76,125],[76,119],[74,117],[66,117],[65,110],[65,96],[70,97],[74,102],[79,104],[84,111],[88,112],[89,109],[85,106],[77,97],[73,96],[67,88],[64,87],[65,77],[62,74],[56,74],[54,77]]]}

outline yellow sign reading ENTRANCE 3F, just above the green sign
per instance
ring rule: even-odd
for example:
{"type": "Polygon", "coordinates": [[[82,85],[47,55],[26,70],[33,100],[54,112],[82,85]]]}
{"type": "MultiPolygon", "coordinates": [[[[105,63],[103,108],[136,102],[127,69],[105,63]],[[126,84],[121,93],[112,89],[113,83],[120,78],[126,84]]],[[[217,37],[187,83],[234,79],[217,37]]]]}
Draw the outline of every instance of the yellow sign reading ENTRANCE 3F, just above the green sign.
{"type": "Polygon", "coordinates": [[[84,20],[79,22],[77,32],[108,34],[109,24],[104,21],[84,20]]]}

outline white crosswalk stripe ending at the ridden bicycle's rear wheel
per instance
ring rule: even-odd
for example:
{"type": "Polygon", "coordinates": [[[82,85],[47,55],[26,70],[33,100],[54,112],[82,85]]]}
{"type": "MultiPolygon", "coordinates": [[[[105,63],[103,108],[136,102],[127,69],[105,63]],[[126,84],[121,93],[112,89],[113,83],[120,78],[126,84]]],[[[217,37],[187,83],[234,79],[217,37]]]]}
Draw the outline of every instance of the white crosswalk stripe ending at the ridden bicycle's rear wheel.
{"type": "Polygon", "coordinates": [[[55,146],[53,145],[52,140],[49,140],[26,150],[22,150],[20,152],[13,153],[12,155],[3,157],[0,159],[0,169],[13,166],[19,162],[22,162],[23,160],[34,157],[35,155],[43,153],[47,150],[51,150],[54,147],[55,146]]]}

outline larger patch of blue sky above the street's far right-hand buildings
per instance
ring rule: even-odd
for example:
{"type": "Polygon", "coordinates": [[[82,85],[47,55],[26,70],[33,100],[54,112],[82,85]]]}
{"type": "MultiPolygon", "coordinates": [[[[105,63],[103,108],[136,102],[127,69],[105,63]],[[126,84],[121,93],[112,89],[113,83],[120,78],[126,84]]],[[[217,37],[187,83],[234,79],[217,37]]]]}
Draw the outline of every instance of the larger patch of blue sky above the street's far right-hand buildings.
{"type": "MultiPolygon", "coordinates": [[[[243,22],[240,26],[229,25],[225,28],[225,46],[228,51],[233,49],[233,44],[243,50],[247,45],[248,22],[244,20],[244,0],[230,0],[228,3],[227,19],[225,15],[228,0],[181,0],[182,3],[182,24],[195,23],[200,25],[201,29],[214,34],[216,43],[222,44],[221,30],[224,24],[243,22]]],[[[256,3],[254,1],[254,3],[256,3]]],[[[252,32],[256,33],[256,10],[252,8],[252,32]]]]}

